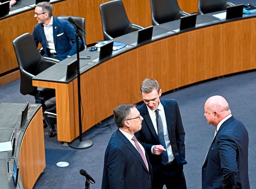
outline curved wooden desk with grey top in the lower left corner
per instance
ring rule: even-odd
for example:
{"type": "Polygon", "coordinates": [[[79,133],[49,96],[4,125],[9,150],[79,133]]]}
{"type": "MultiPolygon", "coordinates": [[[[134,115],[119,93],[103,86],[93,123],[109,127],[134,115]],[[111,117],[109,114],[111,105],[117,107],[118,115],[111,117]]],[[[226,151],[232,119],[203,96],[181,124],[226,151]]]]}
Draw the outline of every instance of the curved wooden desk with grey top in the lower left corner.
{"type": "Polygon", "coordinates": [[[20,117],[25,104],[0,104],[0,142],[13,143],[14,129],[17,131],[15,151],[0,152],[1,188],[32,189],[45,168],[43,113],[40,105],[30,104],[28,118],[20,127],[20,117]],[[10,139],[11,138],[11,139],[10,139]],[[19,162],[17,187],[12,178],[13,161],[19,162]]]}

